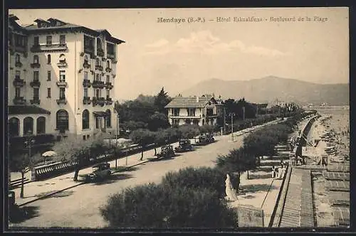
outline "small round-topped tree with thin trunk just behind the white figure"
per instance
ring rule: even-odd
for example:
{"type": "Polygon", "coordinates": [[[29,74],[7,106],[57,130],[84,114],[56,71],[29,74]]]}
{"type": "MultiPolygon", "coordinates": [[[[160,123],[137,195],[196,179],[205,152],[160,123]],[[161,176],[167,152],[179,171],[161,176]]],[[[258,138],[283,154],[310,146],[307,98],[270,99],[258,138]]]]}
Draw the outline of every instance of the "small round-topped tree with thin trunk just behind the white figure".
{"type": "Polygon", "coordinates": [[[241,147],[229,151],[229,154],[220,155],[216,160],[216,166],[229,173],[230,176],[237,173],[236,191],[239,192],[241,172],[256,168],[256,158],[248,153],[244,147],[241,147]]]}

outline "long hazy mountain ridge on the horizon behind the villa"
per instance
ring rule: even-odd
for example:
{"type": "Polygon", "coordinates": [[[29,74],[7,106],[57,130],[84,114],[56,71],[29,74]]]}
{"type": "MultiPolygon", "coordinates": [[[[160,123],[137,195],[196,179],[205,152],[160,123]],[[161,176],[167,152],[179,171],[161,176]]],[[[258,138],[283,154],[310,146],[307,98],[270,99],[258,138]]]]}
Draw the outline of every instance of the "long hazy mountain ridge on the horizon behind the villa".
{"type": "Polygon", "coordinates": [[[182,92],[183,96],[213,94],[224,99],[245,97],[249,102],[271,102],[275,99],[299,104],[349,104],[349,84],[315,84],[301,80],[268,76],[255,80],[211,79],[199,82],[182,92]]]}

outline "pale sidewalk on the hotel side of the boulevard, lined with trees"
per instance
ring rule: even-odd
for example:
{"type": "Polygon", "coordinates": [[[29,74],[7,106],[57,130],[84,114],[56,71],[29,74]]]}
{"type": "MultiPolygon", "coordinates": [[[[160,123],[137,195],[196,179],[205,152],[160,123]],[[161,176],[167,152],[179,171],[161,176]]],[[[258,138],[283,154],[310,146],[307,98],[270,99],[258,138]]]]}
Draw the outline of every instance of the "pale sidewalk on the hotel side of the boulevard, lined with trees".
{"type": "MultiPolygon", "coordinates": [[[[273,124],[273,123],[277,123],[277,122],[278,121],[268,122],[264,125],[244,129],[239,132],[234,132],[234,137],[240,136],[242,134],[246,134],[248,132],[253,131],[254,129],[258,129],[265,125],[273,124]]],[[[223,136],[216,136],[216,140],[224,140],[224,139],[231,139],[231,134],[226,134],[223,136]]],[[[195,143],[194,139],[191,139],[191,141],[192,141],[192,144],[195,143]]],[[[176,143],[172,144],[172,146],[174,148],[174,147],[178,146],[178,143],[176,142],[176,143]]],[[[160,148],[157,148],[157,152],[159,152],[159,151],[160,151],[160,148]]],[[[125,170],[122,170],[122,167],[136,166],[136,165],[145,163],[147,161],[150,161],[150,159],[154,159],[155,158],[155,149],[145,151],[144,158],[142,159],[142,161],[140,161],[140,157],[141,157],[141,153],[138,153],[138,154],[133,154],[131,156],[117,159],[118,170],[125,171],[125,170]]],[[[110,168],[112,168],[112,172],[113,172],[112,174],[115,174],[115,160],[108,161],[108,163],[110,163],[110,168]]],[[[27,203],[31,203],[34,200],[38,200],[39,198],[45,198],[48,195],[53,195],[55,193],[65,191],[68,188],[73,188],[75,186],[79,186],[84,183],[83,181],[84,181],[85,175],[87,175],[88,173],[91,173],[92,171],[93,171],[92,167],[88,167],[88,168],[84,168],[84,169],[80,170],[79,174],[78,174],[77,182],[73,181],[74,172],[71,172],[71,173],[66,173],[66,174],[63,174],[61,176],[57,176],[54,178],[49,178],[49,179],[43,180],[43,181],[33,181],[30,183],[26,183],[23,188],[24,189],[24,191],[23,191],[24,198],[20,198],[21,188],[15,188],[14,190],[12,190],[15,192],[15,202],[17,205],[24,205],[27,203]]],[[[13,178],[13,177],[11,177],[11,178],[13,178]]]]}

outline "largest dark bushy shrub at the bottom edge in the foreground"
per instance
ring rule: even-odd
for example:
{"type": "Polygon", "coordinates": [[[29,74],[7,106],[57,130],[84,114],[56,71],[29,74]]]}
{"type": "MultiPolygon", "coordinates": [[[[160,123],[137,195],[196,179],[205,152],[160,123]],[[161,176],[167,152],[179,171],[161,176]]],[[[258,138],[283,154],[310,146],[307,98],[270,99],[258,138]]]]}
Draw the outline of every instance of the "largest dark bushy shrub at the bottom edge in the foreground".
{"type": "Polygon", "coordinates": [[[109,227],[236,227],[236,213],[208,189],[126,188],[100,208],[109,227]]]}

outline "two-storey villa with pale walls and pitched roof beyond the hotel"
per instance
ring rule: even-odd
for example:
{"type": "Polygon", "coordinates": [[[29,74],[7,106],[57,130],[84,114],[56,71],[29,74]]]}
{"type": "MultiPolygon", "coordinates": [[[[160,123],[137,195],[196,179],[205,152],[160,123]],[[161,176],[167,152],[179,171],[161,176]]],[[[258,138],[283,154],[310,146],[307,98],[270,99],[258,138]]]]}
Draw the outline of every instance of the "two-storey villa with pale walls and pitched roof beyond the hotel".
{"type": "Polygon", "coordinates": [[[219,117],[224,115],[224,104],[215,99],[214,95],[182,97],[181,95],[165,106],[168,111],[169,124],[204,124],[215,125],[219,117]]]}

